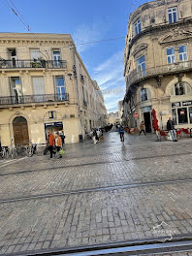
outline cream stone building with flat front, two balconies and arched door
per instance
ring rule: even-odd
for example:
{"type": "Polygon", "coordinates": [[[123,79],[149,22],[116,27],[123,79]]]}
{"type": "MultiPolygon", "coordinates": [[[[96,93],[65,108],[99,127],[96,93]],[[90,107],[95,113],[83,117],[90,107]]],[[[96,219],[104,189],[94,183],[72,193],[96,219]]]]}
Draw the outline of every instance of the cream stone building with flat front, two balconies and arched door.
{"type": "Polygon", "coordinates": [[[48,130],[78,143],[106,115],[70,35],[0,33],[2,145],[45,144],[48,130]]]}

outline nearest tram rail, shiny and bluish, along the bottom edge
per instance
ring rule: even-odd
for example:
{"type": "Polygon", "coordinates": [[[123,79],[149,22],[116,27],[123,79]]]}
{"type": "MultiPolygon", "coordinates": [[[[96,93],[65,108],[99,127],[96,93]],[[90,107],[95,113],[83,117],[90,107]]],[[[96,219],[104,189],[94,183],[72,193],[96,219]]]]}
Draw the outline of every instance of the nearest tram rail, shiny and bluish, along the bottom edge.
{"type": "MultiPolygon", "coordinates": [[[[169,253],[169,256],[176,255],[176,253],[190,252],[192,253],[192,234],[186,237],[177,236],[173,240],[166,240],[166,238],[135,240],[135,241],[117,241],[109,243],[100,243],[95,245],[77,246],[77,247],[63,247],[59,249],[47,249],[19,252],[12,254],[13,256],[149,256],[161,255],[169,253]]],[[[0,254],[2,255],[2,254],[0,254]]],[[[181,255],[181,254],[179,254],[181,255]]],[[[166,255],[165,255],[166,256],[166,255]]]]}

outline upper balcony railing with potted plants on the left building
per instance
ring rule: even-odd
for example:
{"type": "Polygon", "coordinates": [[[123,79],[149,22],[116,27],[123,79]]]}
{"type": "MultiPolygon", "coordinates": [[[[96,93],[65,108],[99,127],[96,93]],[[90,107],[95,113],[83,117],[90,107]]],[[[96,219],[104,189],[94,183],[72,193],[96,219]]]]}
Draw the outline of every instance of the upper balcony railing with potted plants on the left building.
{"type": "Polygon", "coordinates": [[[0,59],[0,69],[67,69],[66,60],[5,60],[0,59]]]}

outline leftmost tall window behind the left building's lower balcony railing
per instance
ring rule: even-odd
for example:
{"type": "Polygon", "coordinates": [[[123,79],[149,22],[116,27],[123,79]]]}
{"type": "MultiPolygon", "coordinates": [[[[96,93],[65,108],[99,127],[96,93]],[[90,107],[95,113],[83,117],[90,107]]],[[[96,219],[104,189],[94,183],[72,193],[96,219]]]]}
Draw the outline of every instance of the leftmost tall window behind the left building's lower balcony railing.
{"type": "Polygon", "coordinates": [[[10,79],[10,82],[14,103],[22,103],[22,84],[20,78],[13,77],[10,79]]]}

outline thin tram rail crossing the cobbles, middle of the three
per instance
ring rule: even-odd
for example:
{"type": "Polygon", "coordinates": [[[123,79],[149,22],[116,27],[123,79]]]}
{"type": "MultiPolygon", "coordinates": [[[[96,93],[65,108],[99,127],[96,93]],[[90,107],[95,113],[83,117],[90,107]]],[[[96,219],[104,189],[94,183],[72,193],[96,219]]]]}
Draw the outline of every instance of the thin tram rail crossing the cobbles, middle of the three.
{"type": "Polygon", "coordinates": [[[144,186],[160,186],[160,185],[176,184],[176,183],[183,183],[183,182],[192,182],[192,177],[167,179],[167,180],[160,180],[160,181],[146,181],[146,182],[140,182],[140,183],[139,182],[125,183],[121,185],[100,186],[100,187],[84,188],[84,189],[77,189],[77,190],[67,190],[67,191],[57,192],[57,193],[45,193],[45,194],[22,196],[22,197],[15,197],[15,198],[7,198],[7,199],[0,199],[0,204],[16,203],[16,202],[23,202],[28,200],[40,200],[45,198],[70,196],[70,195],[77,195],[77,194],[84,194],[84,193],[105,192],[105,191],[137,188],[137,187],[144,187],[144,186]]]}

